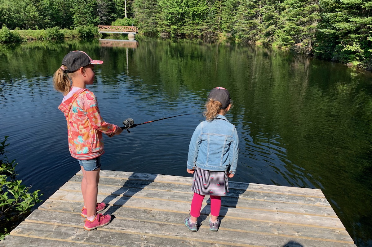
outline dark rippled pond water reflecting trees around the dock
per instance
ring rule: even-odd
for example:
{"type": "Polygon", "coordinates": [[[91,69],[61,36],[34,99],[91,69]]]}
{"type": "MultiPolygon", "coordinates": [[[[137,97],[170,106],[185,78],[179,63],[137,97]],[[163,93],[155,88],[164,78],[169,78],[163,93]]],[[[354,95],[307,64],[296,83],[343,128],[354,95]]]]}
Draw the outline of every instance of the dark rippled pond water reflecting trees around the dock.
{"type": "MultiPolygon", "coordinates": [[[[124,46],[124,45],[123,45],[124,46]]],[[[240,154],[232,181],[318,188],[357,246],[372,246],[372,76],[340,64],[257,47],[145,39],[137,48],[34,42],[0,47],[0,138],[19,178],[47,199],[79,169],[67,146],[52,74],[72,50],[104,63],[89,86],[103,118],[144,124],[104,137],[105,170],[189,176],[187,149],[215,86],[240,154]]]]}

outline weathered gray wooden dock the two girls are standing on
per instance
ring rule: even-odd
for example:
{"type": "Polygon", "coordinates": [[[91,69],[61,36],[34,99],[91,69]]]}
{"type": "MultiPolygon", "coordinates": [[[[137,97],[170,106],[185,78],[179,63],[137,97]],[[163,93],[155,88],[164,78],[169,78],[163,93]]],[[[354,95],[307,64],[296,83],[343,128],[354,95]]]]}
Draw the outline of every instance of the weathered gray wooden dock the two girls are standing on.
{"type": "MultiPolygon", "coordinates": [[[[185,169],[186,172],[186,169],[185,169]]],[[[99,202],[115,216],[83,228],[79,171],[0,241],[1,247],[355,247],[321,190],[230,182],[222,197],[221,226],[209,230],[209,200],[191,232],[191,177],[101,171],[99,202]]],[[[206,196],[206,199],[209,199],[206,196]]]]}

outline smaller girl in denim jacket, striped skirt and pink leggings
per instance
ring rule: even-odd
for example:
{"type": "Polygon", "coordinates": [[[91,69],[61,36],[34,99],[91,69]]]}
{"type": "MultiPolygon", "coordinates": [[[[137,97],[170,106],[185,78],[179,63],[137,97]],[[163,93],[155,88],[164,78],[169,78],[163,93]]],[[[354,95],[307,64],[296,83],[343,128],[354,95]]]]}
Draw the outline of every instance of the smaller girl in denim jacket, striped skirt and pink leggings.
{"type": "Polygon", "coordinates": [[[228,177],[234,177],[238,163],[238,134],[235,126],[227,121],[230,110],[230,93],[217,87],[209,93],[205,104],[205,121],[195,129],[187,157],[187,172],[194,174],[191,190],[190,217],[184,224],[191,231],[198,231],[198,217],[205,195],[211,198],[209,228],[218,231],[221,196],[229,192],[228,177]]]}

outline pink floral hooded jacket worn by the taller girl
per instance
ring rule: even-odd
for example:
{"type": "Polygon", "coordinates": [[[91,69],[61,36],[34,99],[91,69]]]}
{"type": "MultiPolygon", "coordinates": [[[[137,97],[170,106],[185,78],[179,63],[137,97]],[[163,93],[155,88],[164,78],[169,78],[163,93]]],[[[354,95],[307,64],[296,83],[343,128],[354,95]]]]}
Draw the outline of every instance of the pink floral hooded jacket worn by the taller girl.
{"type": "Polygon", "coordinates": [[[103,121],[96,96],[88,89],[72,87],[58,107],[66,117],[68,149],[76,159],[94,159],[101,156],[102,133],[113,134],[119,128],[103,121]]]}

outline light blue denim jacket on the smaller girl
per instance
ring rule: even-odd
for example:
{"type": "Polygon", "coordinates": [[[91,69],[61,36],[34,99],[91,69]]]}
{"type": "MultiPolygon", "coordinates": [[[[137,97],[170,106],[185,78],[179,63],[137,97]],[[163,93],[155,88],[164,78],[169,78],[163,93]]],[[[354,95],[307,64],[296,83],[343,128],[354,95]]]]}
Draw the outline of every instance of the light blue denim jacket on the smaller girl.
{"type": "Polygon", "coordinates": [[[202,121],[192,134],[187,169],[228,171],[235,174],[238,164],[239,140],[234,124],[218,115],[212,121],[202,121]],[[229,168],[230,167],[230,168],[229,168]]]}

